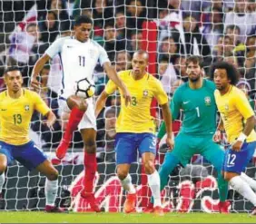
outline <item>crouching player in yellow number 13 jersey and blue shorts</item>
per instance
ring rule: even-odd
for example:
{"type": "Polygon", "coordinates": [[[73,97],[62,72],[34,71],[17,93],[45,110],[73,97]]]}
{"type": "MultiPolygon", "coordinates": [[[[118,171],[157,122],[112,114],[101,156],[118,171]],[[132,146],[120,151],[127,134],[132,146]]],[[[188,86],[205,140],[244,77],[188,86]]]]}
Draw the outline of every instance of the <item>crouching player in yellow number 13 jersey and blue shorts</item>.
{"type": "Polygon", "coordinates": [[[17,67],[5,71],[7,90],[0,93],[0,199],[3,200],[5,170],[11,161],[19,161],[28,170],[38,170],[46,176],[45,198],[47,212],[63,212],[55,207],[58,191],[58,171],[29,139],[29,124],[34,111],[47,117],[46,125],[52,129],[54,112],[37,93],[22,88],[22,73],[17,67]]]}

